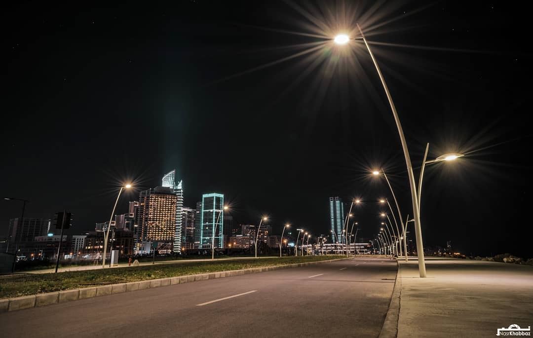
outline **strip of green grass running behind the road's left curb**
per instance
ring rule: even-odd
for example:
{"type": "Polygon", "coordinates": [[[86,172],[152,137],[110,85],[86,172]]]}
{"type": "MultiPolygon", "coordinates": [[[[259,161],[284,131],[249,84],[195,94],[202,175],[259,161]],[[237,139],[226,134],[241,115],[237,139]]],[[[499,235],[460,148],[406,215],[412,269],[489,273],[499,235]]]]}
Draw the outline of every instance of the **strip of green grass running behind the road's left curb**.
{"type": "Polygon", "coordinates": [[[165,277],[195,275],[218,271],[270,267],[305,262],[317,262],[343,258],[344,256],[303,256],[277,259],[223,260],[212,262],[190,262],[177,264],[143,265],[121,269],[98,269],[24,274],[0,277],[0,299],[46,292],[93,287],[130,281],[150,280],[165,277]]]}

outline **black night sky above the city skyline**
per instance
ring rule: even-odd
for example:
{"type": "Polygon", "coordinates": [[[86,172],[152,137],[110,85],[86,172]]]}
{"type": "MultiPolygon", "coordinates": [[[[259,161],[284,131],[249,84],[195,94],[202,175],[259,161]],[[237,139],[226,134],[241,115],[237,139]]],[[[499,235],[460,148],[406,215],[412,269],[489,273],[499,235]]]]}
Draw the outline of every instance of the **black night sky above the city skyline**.
{"type": "MultiPolygon", "coordinates": [[[[389,196],[368,175],[380,166],[404,218],[412,214],[372,61],[360,40],[352,54],[328,42],[360,22],[414,166],[426,142],[429,158],[467,154],[427,167],[424,244],[533,257],[523,2],[21,2],[4,15],[0,190],[30,200],[27,216],[67,208],[73,232],[90,230],[109,219],[121,182],[137,191],[117,213],[176,168],[185,205],[223,192],[236,222],[268,214],[274,231],[289,221],[326,233],[328,197],[360,197],[356,218],[369,237],[376,200],[389,196]]],[[[19,203],[0,203],[4,229],[19,214],[19,203]]]]}

